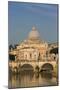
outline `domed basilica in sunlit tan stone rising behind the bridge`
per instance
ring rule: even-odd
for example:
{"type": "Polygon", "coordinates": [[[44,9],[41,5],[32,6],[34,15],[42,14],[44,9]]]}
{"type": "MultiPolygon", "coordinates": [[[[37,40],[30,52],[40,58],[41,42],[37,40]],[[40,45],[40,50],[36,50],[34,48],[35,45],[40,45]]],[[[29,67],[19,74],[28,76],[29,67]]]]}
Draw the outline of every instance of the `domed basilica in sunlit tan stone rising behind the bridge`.
{"type": "MultiPolygon", "coordinates": [[[[57,44],[53,44],[57,46],[57,44]]],[[[35,27],[29,32],[27,39],[22,41],[14,50],[9,51],[10,55],[15,56],[15,61],[41,61],[48,58],[55,57],[54,54],[49,53],[52,45],[41,40],[40,34],[35,27]]]]}

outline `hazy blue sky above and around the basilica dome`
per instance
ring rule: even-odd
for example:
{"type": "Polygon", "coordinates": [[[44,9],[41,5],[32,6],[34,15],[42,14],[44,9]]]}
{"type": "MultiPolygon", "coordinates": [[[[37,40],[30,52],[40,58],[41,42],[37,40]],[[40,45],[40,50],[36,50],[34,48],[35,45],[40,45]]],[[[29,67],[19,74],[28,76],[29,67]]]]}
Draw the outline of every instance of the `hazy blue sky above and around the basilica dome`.
{"type": "Polygon", "coordinates": [[[9,44],[18,44],[26,39],[32,26],[36,26],[42,40],[57,41],[58,6],[8,2],[9,44]]]}

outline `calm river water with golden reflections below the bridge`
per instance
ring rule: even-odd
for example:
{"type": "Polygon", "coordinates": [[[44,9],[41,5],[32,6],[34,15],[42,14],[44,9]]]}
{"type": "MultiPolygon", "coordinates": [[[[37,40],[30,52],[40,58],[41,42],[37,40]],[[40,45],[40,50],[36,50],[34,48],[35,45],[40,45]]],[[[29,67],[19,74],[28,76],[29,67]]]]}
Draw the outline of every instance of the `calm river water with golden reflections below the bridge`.
{"type": "Polygon", "coordinates": [[[20,74],[9,75],[9,88],[57,85],[57,78],[51,73],[23,71],[20,74]]]}

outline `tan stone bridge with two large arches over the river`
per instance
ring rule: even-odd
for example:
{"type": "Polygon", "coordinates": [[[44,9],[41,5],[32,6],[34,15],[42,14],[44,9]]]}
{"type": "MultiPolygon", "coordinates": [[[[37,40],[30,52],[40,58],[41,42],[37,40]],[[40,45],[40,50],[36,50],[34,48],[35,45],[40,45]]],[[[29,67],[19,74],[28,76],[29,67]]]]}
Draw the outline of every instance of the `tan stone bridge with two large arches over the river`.
{"type": "Polygon", "coordinates": [[[56,61],[20,61],[20,62],[10,62],[9,67],[12,67],[12,71],[19,70],[29,70],[32,69],[33,71],[36,70],[36,67],[39,67],[39,70],[42,69],[52,69],[54,70],[56,66],[56,61]]]}

